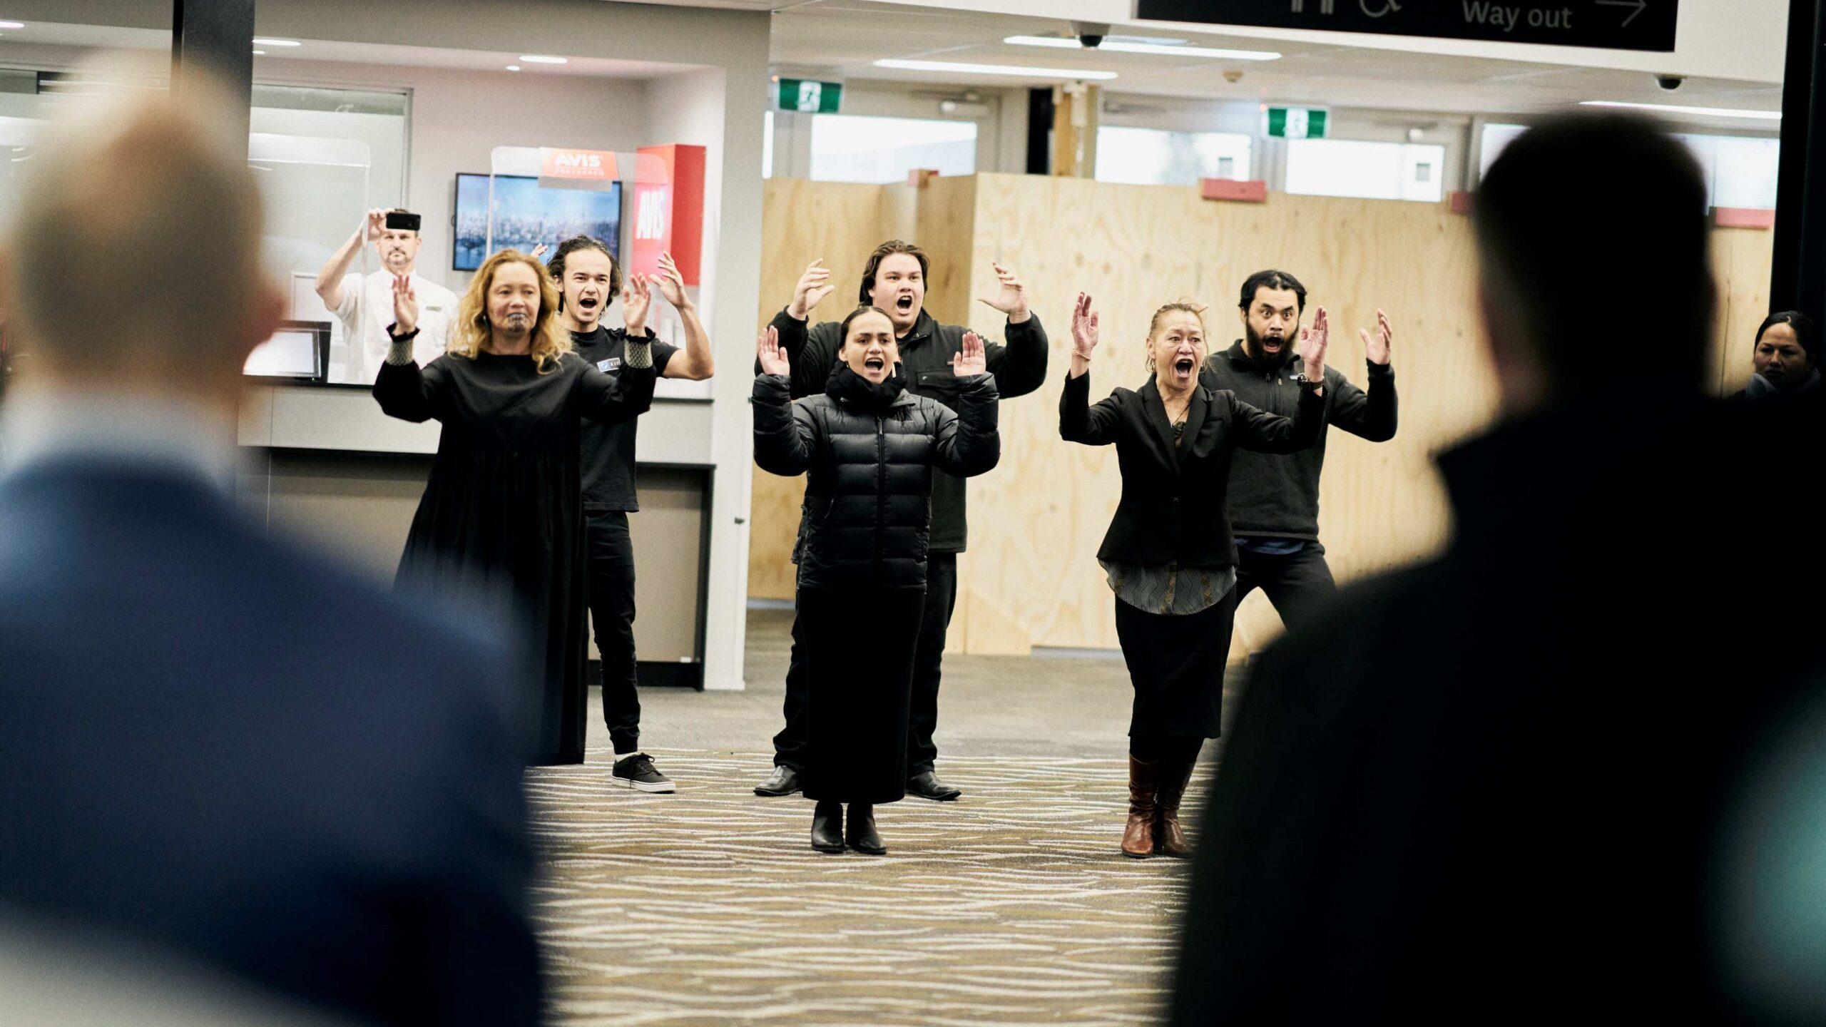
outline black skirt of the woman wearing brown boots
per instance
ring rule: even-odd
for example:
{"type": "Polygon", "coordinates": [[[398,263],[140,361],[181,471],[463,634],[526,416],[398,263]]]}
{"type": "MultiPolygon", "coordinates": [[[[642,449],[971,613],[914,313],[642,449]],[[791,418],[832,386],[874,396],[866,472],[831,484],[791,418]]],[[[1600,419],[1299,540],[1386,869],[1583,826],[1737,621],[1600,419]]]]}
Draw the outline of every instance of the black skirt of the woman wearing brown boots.
{"type": "Polygon", "coordinates": [[[1207,610],[1170,618],[1116,599],[1116,638],[1136,689],[1128,735],[1216,738],[1236,588],[1207,610]]]}

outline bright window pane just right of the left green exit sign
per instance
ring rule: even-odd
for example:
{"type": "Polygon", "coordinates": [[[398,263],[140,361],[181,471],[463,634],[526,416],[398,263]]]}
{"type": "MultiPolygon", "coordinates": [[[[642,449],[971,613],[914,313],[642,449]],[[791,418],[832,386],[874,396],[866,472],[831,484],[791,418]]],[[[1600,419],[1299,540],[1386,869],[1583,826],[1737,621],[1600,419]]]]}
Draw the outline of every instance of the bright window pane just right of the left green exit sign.
{"type": "Polygon", "coordinates": [[[811,177],[893,183],[915,168],[940,175],[977,170],[977,122],[818,113],[811,119],[811,177]]]}

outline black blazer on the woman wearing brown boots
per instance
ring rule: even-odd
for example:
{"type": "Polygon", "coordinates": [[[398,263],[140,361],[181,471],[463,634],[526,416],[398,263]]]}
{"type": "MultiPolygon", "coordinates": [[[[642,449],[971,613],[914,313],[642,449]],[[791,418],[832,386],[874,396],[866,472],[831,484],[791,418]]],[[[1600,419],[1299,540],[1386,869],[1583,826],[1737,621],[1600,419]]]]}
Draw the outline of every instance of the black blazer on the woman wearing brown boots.
{"type": "Polygon", "coordinates": [[[1278,417],[1229,389],[1196,386],[1185,433],[1172,440],[1167,406],[1150,376],[1139,391],[1116,389],[1090,404],[1090,373],[1066,376],[1059,397],[1059,437],[1086,446],[1116,444],[1123,497],[1097,559],[1143,566],[1229,566],[1236,539],[1225,492],[1231,453],[1295,453],[1324,426],[1326,400],[1302,391],[1295,415],[1278,417]]]}

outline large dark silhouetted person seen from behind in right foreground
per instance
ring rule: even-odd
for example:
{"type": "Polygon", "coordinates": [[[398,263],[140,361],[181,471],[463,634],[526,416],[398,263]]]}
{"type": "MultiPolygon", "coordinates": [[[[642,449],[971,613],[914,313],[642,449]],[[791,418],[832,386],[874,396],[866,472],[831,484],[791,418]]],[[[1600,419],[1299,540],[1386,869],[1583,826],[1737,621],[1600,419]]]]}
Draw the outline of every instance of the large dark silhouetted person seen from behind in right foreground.
{"type": "Polygon", "coordinates": [[[1769,446],[1819,439],[1819,404],[1705,398],[1705,177],[1654,122],[1539,122],[1474,230],[1501,406],[1439,457],[1453,539],[1251,669],[1170,1022],[1819,1023],[1819,786],[1753,769],[1826,769],[1822,559],[1716,545],[1819,517],[1769,446]],[[1594,296],[1653,296],[1621,364],[1594,296]],[[1746,1003],[1771,990],[1815,1005],[1746,1003]]]}

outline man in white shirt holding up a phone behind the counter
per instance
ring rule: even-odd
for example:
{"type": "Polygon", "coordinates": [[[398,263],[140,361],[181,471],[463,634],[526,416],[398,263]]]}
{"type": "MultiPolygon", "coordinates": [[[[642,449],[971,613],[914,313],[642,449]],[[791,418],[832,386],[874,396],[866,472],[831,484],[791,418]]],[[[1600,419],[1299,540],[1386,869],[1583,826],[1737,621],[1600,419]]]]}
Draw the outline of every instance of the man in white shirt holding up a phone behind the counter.
{"type": "Polygon", "coordinates": [[[318,272],[318,296],[343,325],[347,358],[341,375],[332,380],[356,386],[374,380],[387,356],[393,280],[402,274],[411,278],[413,292],[418,296],[418,338],[413,344],[413,358],[424,367],[444,355],[449,323],[456,314],[456,294],[418,274],[422,243],[418,214],[400,208],[369,210],[362,228],[349,236],[318,272]],[[365,276],[349,270],[363,241],[374,243],[374,252],[380,254],[380,270],[365,276]]]}

